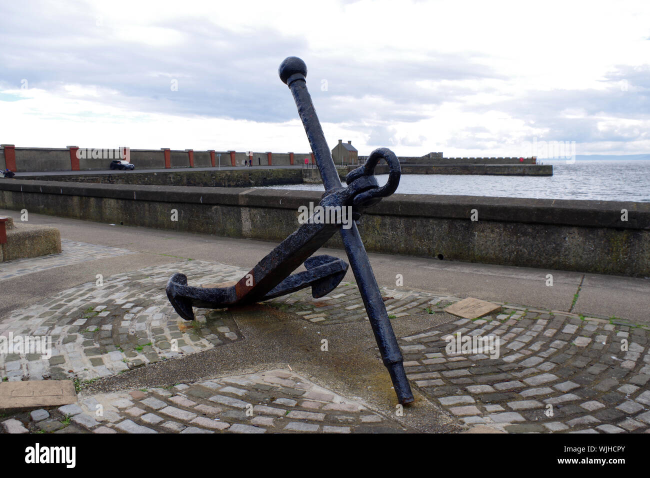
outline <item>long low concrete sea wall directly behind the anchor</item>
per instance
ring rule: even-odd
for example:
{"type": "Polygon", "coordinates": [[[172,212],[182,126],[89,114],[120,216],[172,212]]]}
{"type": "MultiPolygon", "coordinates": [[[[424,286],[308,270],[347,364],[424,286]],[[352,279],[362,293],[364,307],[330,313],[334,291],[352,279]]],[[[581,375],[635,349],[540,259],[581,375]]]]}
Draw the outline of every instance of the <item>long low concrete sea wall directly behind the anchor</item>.
{"type": "MultiPolygon", "coordinates": [[[[298,207],[320,196],[277,189],[0,181],[5,209],[276,242],[298,228],[298,207]],[[171,220],[172,209],[177,221],[171,220]]],[[[366,211],[359,230],[373,252],[650,276],[648,203],[393,194],[366,211]]],[[[341,239],[335,235],[327,245],[341,247],[341,239]]]]}

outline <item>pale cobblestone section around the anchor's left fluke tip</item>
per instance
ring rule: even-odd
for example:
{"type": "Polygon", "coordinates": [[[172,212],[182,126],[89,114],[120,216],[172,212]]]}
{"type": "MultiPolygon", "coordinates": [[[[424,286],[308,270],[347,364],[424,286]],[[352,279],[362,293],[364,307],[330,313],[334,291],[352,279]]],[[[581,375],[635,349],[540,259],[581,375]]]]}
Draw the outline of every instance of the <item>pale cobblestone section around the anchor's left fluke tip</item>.
{"type": "Polygon", "coordinates": [[[196,321],[178,317],[164,292],[170,270],[201,270],[203,284],[233,280],[243,269],[187,261],[148,267],[88,282],[16,311],[0,323],[0,335],[51,336],[52,356],[0,355],[8,380],[106,377],[144,364],[190,354],[240,339],[229,313],[198,310],[196,321]]]}

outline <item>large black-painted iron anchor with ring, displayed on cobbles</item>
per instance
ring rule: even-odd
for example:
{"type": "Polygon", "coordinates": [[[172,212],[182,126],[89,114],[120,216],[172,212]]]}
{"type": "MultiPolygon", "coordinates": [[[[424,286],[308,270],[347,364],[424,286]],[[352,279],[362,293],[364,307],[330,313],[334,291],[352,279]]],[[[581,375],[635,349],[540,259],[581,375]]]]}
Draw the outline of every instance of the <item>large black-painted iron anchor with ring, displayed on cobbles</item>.
{"type": "Polygon", "coordinates": [[[193,307],[218,309],[243,306],[310,286],[313,297],[323,297],[343,280],[348,264],[332,256],[313,254],[339,231],[383,364],[388,369],[399,403],[406,405],[413,402],[413,393],[404,371],[402,353],[356,225],[367,207],[395,193],[400,181],[400,163],[391,150],[378,148],[370,153],[363,165],[348,173],[345,179],[347,187],[343,187],[307,91],[305,62],[298,57],[288,57],[280,64],[278,73],[291,90],[316,158],[325,187],[319,205],[325,210],[328,207],[351,207],[351,227],[343,228],[341,224],[314,220],[311,217],[259,261],[237,284],[229,287],[191,287],[187,284],[187,276],[176,273],[167,283],[167,297],[174,310],[188,321],[194,319],[193,307]],[[374,177],[374,168],[382,159],[389,166],[389,176],[385,185],[380,187],[374,177]],[[292,274],[303,263],[306,271],[292,274]]]}

